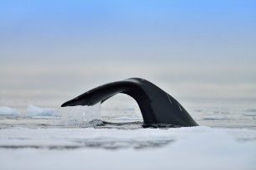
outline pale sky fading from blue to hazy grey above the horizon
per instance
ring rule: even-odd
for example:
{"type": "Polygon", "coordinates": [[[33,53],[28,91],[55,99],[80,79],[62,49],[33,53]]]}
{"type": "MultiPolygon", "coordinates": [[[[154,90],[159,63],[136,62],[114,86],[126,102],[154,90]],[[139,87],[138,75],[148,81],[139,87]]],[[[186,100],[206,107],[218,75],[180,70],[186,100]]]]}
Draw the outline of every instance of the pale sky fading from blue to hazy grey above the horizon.
{"type": "Polygon", "coordinates": [[[0,2],[0,96],[130,77],[180,98],[256,98],[256,2],[0,2]]]}

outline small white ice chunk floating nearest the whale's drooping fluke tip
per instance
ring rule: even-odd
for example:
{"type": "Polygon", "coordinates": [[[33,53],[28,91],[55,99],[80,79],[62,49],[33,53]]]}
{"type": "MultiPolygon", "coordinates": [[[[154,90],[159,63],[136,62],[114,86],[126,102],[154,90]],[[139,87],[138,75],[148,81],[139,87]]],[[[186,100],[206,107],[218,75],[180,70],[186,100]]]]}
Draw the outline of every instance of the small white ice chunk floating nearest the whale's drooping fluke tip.
{"type": "Polygon", "coordinates": [[[39,108],[34,105],[28,105],[27,116],[36,117],[36,116],[53,116],[54,109],[51,108],[39,108]]]}

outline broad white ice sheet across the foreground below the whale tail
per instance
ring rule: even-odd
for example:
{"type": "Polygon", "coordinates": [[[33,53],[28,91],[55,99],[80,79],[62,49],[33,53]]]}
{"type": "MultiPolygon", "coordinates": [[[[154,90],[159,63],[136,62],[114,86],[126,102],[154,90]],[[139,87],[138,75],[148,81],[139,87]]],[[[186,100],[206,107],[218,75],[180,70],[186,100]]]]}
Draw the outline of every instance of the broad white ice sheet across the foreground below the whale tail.
{"type": "Polygon", "coordinates": [[[255,170],[255,138],[255,130],[203,126],[0,129],[0,169],[255,170]]]}

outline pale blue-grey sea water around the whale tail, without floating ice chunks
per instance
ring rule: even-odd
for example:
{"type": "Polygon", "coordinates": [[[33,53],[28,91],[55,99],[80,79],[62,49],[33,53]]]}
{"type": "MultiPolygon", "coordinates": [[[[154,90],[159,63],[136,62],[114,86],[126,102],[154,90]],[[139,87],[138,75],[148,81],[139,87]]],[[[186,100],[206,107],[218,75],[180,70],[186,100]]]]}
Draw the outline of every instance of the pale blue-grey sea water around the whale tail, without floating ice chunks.
{"type": "MultiPolygon", "coordinates": [[[[103,103],[88,109],[85,107],[60,108],[60,105],[68,99],[65,98],[1,98],[0,106],[8,106],[18,109],[21,116],[15,118],[0,119],[1,126],[42,126],[58,125],[60,127],[92,125],[98,128],[137,129],[143,127],[143,119],[136,102],[126,96],[117,95],[103,103]],[[68,120],[75,119],[76,122],[63,124],[51,117],[28,117],[28,105],[33,104],[42,108],[55,109],[59,117],[68,120]],[[99,109],[99,110],[98,110],[99,109]],[[100,113],[98,113],[100,112],[100,113]],[[81,114],[81,115],[80,115],[81,114]],[[68,116],[67,116],[68,115],[68,116]],[[86,118],[86,119],[84,119],[86,118]],[[88,122],[83,124],[81,119],[91,121],[99,119],[98,123],[88,122]],[[56,124],[57,122],[57,124],[56,124]],[[92,123],[92,124],[91,124],[92,123]]],[[[187,99],[179,100],[187,109],[193,119],[199,124],[208,127],[232,128],[232,129],[256,129],[256,100],[253,99],[187,99]]]]}

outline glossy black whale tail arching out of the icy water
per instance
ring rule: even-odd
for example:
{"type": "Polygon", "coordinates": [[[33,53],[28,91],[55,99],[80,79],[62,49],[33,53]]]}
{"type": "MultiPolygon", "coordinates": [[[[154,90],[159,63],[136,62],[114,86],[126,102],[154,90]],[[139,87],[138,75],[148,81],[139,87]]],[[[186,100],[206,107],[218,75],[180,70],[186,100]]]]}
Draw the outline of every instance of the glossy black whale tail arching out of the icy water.
{"type": "Polygon", "coordinates": [[[62,107],[103,103],[118,93],[129,95],[136,100],[143,115],[144,124],[198,126],[186,109],[171,95],[148,80],[140,78],[130,78],[98,86],[73,100],[68,100],[62,104],[62,107]]]}

